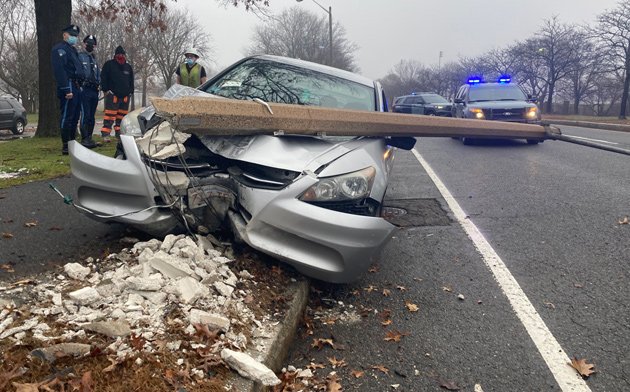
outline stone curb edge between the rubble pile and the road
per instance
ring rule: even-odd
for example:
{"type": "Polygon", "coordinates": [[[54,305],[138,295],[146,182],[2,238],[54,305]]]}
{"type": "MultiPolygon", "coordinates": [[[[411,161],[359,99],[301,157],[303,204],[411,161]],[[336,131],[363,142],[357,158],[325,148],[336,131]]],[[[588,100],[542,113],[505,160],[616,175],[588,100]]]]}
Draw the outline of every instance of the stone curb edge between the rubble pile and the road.
{"type": "MultiPolygon", "coordinates": [[[[306,309],[309,292],[308,280],[298,280],[287,287],[285,296],[290,298],[284,318],[275,326],[271,336],[259,338],[252,342],[252,349],[248,354],[256,358],[274,372],[280,371],[289,353],[289,347],[293,343],[297,332],[298,324],[306,309]],[[258,351],[255,347],[264,347],[263,351],[258,351]]],[[[245,379],[233,372],[228,380],[239,392],[264,392],[271,390],[270,387],[245,379]]]]}

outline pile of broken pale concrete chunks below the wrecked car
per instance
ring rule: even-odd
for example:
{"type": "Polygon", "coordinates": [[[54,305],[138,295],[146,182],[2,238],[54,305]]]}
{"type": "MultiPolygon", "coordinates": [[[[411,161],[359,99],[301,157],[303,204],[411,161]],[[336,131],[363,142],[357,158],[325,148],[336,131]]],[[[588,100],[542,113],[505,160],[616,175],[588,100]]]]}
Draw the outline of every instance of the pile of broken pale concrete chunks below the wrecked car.
{"type": "MultiPolygon", "coordinates": [[[[239,282],[251,281],[253,276],[246,270],[235,275],[229,268],[232,260],[214,249],[209,238],[197,235],[195,241],[184,235],[168,235],[163,241],[137,242],[101,263],[90,258],[87,266],[66,264],[65,274],[50,283],[29,288],[0,287],[0,340],[11,339],[19,344],[33,337],[42,342],[42,348],[32,355],[53,361],[59,351],[75,356],[89,354],[89,344],[75,341],[101,334],[113,341],[107,351],[123,361],[135,355],[128,344],[131,334],[142,337],[142,349],[153,353],[157,351],[156,342],[164,340],[173,324],[191,337],[196,327],[207,326],[210,331],[220,331],[210,347],[212,353],[224,358],[242,376],[276,385],[280,380],[271,370],[238,352],[264,352],[265,347],[261,347],[264,339],[248,341],[236,330],[251,331],[254,338],[264,337],[266,327],[273,323],[267,319],[270,316],[257,320],[245,300],[251,293],[237,288],[239,282]],[[112,268],[103,268],[106,265],[112,268]],[[3,297],[20,290],[30,290],[36,303],[30,305],[30,318],[18,321],[20,313],[3,297]],[[167,315],[173,314],[174,308],[184,316],[169,319],[167,315]],[[56,320],[55,329],[43,321],[51,316],[56,320]],[[53,334],[59,331],[59,325],[65,330],[53,334]]],[[[181,344],[181,340],[167,341],[166,347],[176,353],[181,344]]],[[[194,343],[192,346],[195,348],[194,343]]],[[[192,374],[204,377],[200,369],[193,369],[192,374]]]]}

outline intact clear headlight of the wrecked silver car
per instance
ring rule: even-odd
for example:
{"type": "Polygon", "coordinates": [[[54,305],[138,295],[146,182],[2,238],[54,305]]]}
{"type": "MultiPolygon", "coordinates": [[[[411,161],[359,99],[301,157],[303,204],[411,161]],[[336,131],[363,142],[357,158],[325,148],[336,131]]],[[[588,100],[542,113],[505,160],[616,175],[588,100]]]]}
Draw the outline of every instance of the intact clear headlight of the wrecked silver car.
{"type": "Polygon", "coordinates": [[[370,166],[353,173],[321,178],[298,199],[306,202],[363,199],[370,194],[375,176],[376,169],[370,166]]]}

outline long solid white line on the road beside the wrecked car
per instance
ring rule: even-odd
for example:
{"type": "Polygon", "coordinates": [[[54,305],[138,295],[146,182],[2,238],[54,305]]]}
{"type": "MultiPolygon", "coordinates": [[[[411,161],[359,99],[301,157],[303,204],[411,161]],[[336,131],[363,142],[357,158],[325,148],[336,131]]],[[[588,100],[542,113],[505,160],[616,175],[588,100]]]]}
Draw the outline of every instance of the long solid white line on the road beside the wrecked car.
{"type": "Polygon", "coordinates": [[[455,219],[462,225],[466,234],[468,234],[479,253],[481,253],[484,263],[490,269],[499,287],[510,301],[516,316],[525,327],[525,330],[527,330],[536,348],[538,348],[538,352],[547,363],[547,367],[555,377],[560,389],[563,392],[590,392],[586,382],[568,365],[571,362],[569,357],[551,334],[538,312],[536,312],[534,305],[529,302],[521,286],[514,279],[503,260],[492,249],[492,246],[490,246],[477,226],[467,218],[464,210],[462,210],[459,203],[457,203],[427,161],[416,150],[412,150],[412,152],[448,203],[449,208],[455,215],[455,219]]]}

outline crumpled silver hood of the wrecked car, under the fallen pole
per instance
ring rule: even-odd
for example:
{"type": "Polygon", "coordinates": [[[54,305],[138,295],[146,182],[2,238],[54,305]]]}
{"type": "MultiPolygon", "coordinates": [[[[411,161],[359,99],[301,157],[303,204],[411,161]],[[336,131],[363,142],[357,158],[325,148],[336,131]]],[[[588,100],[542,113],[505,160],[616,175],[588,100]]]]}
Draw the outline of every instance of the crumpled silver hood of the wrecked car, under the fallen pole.
{"type": "MultiPolygon", "coordinates": [[[[227,99],[177,84],[168,89],[164,98],[190,95],[227,99]]],[[[149,106],[140,115],[150,118],[154,113],[153,106],[149,106]]],[[[299,172],[317,170],[352,151],[358,142],[349,141],[349,138],[290,135],[201,136],[200,140],[211,152],[227,159],[299,172]]]]}

